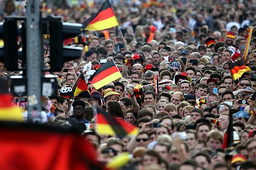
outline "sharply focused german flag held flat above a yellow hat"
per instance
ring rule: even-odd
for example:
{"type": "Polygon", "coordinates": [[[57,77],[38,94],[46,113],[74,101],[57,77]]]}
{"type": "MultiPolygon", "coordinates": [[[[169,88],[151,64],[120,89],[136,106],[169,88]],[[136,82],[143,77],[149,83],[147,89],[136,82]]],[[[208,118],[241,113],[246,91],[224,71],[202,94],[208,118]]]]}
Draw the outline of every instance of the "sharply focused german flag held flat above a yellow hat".
{"type": "Polygon", "coordinates": [[[90,77],[89,82],[94,88],[99,89],[108,83],[122,77],[113,60],[101,65],[101,67],[90,77]]]}

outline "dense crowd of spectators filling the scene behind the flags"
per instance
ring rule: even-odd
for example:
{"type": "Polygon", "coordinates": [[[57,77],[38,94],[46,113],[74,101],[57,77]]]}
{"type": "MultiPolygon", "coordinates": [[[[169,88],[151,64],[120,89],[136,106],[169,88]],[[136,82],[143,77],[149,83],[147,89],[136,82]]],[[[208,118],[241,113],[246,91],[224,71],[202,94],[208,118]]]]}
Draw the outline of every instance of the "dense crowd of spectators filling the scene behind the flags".
{"type": "MultiPolygon", "coordinates": [[[[114,6],[119,27],[83,31],[67,41],[84,51],[65,62],[61,72],[45,72],[59,77],[58,96],[49,97],[55,110],[44,108],[52,112],[46,124],[77,127],[95,146],[99,161],[131,153],[126,168],[256,170],[256,29],[244,63],[250,69],[240,70],[238,79],[231,71],[232,63],[242,59],[248,28],[256,28],[256,3],[150,2],[121,1],[126,6],[114,6]],[[91,70],[97,70],[111,60],[122,78],[100,89],[87,82],[88,91],[70,99],[79,74],[87,77],[84,65],[91,62],[91,70]],[[137,126],[139,133],[122,139],[99,135],[96,108],[137,126]],[[233,134],[227,133],[229,125],[233,134]]],[[[83,23],[97,10],[52,13],[83,23]]],[[[45,68],[50,68],[54,56],[47,40],[44,51],[45,68]]],[[[2,63],[1,77],[17,74],[2,63]]]]}

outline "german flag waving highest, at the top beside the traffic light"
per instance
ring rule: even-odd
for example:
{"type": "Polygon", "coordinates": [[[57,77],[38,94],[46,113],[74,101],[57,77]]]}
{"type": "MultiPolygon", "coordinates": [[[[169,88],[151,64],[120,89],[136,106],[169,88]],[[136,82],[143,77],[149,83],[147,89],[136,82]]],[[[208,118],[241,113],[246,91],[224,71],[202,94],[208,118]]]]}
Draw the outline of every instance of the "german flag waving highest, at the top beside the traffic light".
{"type": "Polygon", "coordinates": [[[82,24],[82,29],[88,31],[100,31],[119,25],[113,8],[108,0],[103,3],[98,13],[93,14],[82,24]]]}

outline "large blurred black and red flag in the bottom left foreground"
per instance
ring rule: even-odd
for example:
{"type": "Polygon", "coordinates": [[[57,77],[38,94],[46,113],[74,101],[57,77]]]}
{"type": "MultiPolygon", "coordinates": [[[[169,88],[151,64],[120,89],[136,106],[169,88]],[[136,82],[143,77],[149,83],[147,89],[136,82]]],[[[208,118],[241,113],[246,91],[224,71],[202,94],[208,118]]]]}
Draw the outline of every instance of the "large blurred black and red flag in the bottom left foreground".
{"type": "Polygon", "coordinates": [[[0,122],[3,170],[105,170],[75,128],[0,122]]]}

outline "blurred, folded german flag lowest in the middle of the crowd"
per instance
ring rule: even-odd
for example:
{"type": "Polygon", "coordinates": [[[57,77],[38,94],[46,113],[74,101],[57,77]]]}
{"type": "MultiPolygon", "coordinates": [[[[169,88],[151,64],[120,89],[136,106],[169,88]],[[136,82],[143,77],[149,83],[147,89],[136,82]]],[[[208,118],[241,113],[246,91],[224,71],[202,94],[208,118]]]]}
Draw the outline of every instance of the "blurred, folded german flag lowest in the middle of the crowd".
{"type": "Polygon", "coordinates": [[[120,139],[126,135],[137,135],[139,130],[137,127],[125,122],[120,118],[116,118],[111,114],[105,113],[98,108],[98,113],[96,116],[97,133],[102,135],[116,135],[120,139]]]}

